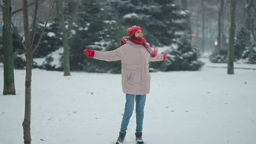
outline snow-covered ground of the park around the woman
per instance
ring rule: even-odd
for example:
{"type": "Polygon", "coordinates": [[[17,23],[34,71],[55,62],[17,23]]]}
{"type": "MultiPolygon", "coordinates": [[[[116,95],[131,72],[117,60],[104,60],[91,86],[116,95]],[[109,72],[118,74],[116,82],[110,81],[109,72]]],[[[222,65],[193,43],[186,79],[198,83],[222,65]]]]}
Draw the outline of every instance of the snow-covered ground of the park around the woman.
{"type": "MultiPolygon", "coordinates": [[[[23,144],[25,70],[14,74],[16,95],[3,95],[0,66],[0,144],[23,144]]],[[[32,144],[115,144],[125,106],[121,75],[62,75],[32,71],[32,144]]],[[[125,144],[135,144],[135,127],[134,111],[125,144]]],[[[143,139],[145,144],[256,144],[256,70],[227,75],[226,69],[205,66],[151,73],[143,139]]]]}

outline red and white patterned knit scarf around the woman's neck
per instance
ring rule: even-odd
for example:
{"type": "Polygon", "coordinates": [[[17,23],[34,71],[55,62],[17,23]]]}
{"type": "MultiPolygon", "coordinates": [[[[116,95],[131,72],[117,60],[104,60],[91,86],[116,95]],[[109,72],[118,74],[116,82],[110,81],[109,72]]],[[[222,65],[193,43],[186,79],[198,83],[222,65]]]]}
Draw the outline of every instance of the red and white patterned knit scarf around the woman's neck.
{"type": "MultiPolygon", "coordinates": [[[[121,46],[124,45],[127,40],[131,40],[130,37],[129,36],[124,36],[121,39],[121,46]]],[[[154,50],[152,50],[151,47],[148,46],[148,44],[145,43],[144,37],[135,37],[132,42],[137,44],[137,45],[143,45],[148,50],[148,52],[150,53],[152,58],[154,58],[158,53],[158,47],[154,46],[154,50]]]]}

